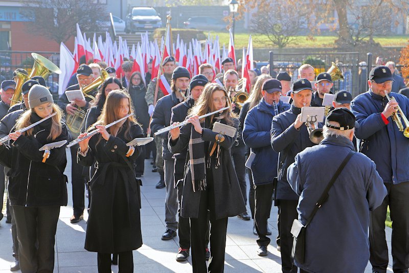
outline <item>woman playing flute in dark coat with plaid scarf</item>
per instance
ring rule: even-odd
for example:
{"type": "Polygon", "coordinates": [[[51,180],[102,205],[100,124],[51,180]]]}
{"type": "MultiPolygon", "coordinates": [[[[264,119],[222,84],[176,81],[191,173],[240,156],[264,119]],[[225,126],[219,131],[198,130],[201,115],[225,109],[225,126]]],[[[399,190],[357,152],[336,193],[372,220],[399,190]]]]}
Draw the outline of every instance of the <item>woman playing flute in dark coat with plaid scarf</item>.
{"type": "Polygon", "coordinates": [[[223,272],[228,218],[245,212],[230,149],[235,137],[212,131],[215,121],[238,128],[231,108],[199,120],[198,116],[229,106],[228,93],[209,83],[189,115],[189,124],[170,131],[172,153],[188,150],[181,216],[190,218],[193,272],[208,272],[205,259],[206,226],[210,213],[209,271],[223,272]],[[215,144],[216,149],[212,149],[215,144]],[[213,150],[213,152],[211,151],[213,150]],[[209,212],[208,212],[209,210],[209,212]]]}

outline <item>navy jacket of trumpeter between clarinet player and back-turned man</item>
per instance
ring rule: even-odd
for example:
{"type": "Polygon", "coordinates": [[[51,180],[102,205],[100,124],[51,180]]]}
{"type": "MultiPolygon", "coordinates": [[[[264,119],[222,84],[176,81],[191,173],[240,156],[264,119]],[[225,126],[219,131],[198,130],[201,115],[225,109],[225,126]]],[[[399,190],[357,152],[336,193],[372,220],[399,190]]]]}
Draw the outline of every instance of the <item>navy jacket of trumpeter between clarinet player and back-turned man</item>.
{"type": "Polygon", "coordinates": [[[298,200],[298,195],[291,190],[287,181],[287,168],[294,162],[294,157],[307,147],[315,145],[311,142],[307,127],[303,124],[297,130],[293,123],[301,113],[301,108],[291,104],[291,108],[272,119],[271,145],[280,153],[278,163],[278,183],[276,199],[298,200]]]}

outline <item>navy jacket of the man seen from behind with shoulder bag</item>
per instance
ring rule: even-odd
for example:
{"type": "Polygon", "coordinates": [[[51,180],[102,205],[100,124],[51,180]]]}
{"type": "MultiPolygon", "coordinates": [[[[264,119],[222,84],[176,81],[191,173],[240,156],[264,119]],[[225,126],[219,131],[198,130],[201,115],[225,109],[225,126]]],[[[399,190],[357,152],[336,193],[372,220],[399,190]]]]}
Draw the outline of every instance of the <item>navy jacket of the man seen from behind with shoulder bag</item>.
{"type": "MultiPolygon", "coordinates": [[[[287,179],[300,196],[298,219],[305,225],[316,201],[350,151],[346,137],[329,136],[296,156],[287,179]],[[331,162],[323,165],[319,162],[331,162]]],[[[328,200],[306,227],[305,262],[308,272],[363,272],[369,260],[369,213],[387,189],[367,156],[354,153],[329,190],[328,200]],[[353,247],[351,247],[353,246],[353,247]]]]}

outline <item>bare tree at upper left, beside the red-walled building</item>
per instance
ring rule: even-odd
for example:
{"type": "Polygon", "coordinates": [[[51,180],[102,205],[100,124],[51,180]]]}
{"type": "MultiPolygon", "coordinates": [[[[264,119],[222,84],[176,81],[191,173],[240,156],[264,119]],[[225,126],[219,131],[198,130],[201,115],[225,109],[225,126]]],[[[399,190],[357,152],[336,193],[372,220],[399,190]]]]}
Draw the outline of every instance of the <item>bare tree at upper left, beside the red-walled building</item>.
{"type": "Polygon", "coordinates": [[[108,21],[104,5],[94,0],[32,0],[21,3],[30,32],[61,43],[76,34],[78,23],[82,31],[98,31],[108,21]]]}

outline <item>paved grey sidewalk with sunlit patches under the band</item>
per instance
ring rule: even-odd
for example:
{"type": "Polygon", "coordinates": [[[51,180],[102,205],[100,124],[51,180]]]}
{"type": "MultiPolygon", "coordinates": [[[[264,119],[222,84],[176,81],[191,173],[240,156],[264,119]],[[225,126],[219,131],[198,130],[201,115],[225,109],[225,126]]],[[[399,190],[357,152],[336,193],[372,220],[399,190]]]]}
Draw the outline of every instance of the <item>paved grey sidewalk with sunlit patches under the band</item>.
{"type": "MultiPolygon", "coordinates": [[[[145,174],[142,177],[142,237],[143,246],[133,251],[135,272],[192,272],[192,261],[176,262],[178,237],[170,241],[162,241],[165,232],[165,188],[157,190],[155,184],[159,179],[157,173],[151,172],[150,160],[145,160],[145,174]]],[[[70,158],[66,174],[71,179],[70,158]]],[[[248,185],[247,185],[248,187],[248,185]]],[[[61,207],[56,235],[56,254],[54,272],[93,273],[97,270],[97,254],[84,249],[86,222],[71,224],[72,198],[71,181],[68,184],[69,204],[61,207]]],[[[87,205],[87,201],[86,201],[87,205]]],[[[249,212],[249,208],[247,207],[249,212]]],[[[87,219],[85,213],[84,220],[87,219]]],[[[12,257],[12,240],[10,224],[0,222],[0,273],[10,272],[12,257]]],[[[271,209],[269,219],[272,231],[268,256],[259,257],[256,254],[257,237],[253,235],[253,221],[243,221],[237,217],[229,219],[228,236],[226,240],[225,272],[281,272],[280,252],[277,251],[275,238],[277,236],[277,208],[271,209]]],[[[387,228],[388,245],[391,247],[391,228],[387,228]]],[[[350,246],[354,247],[353,245],[350,246]]],[[[388,272],[392,272],[392,258],[388,272]]],[[[112,266],[113,272],[118,272],[118,266],[112,266]]],[[[17,271],[20,272],[20,271],[17,271]]],[[[368,266],[365,272],[372,272],[368,266]]]]}

